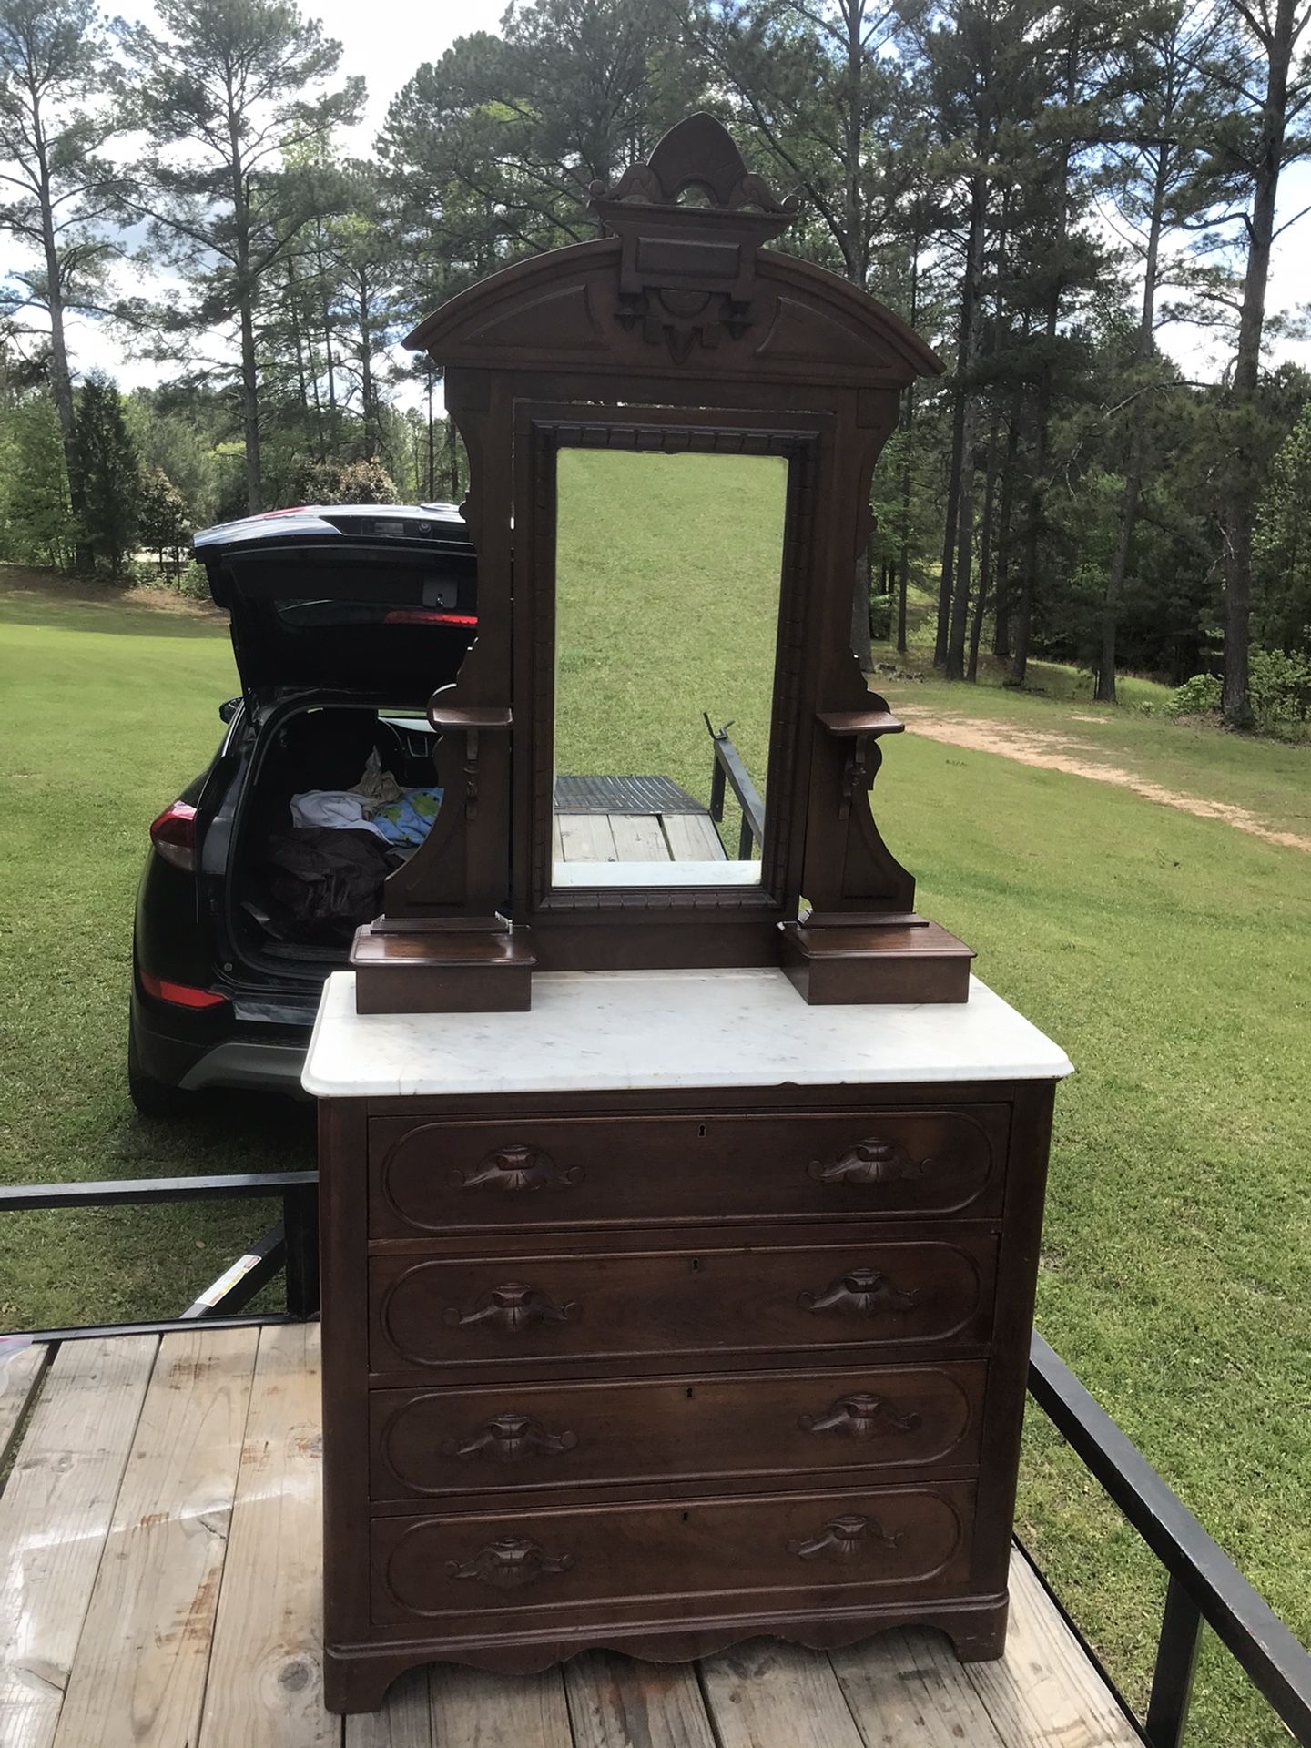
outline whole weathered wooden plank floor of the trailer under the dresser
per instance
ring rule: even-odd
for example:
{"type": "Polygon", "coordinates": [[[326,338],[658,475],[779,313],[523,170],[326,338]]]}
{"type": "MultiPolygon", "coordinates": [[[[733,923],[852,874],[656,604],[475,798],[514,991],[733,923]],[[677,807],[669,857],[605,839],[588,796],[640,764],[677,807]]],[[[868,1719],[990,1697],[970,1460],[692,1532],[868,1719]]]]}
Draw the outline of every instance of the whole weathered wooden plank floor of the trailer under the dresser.
{"type": "Polygon", "coordinates": [[[434,1668],[385,1711],[320,1697],[318,1328],[16,1353],[0,1388],[3,1748],[1133,1748],[1017,1554],[1007,1657],[935,1634],[696,1666],[434,1668]]]}

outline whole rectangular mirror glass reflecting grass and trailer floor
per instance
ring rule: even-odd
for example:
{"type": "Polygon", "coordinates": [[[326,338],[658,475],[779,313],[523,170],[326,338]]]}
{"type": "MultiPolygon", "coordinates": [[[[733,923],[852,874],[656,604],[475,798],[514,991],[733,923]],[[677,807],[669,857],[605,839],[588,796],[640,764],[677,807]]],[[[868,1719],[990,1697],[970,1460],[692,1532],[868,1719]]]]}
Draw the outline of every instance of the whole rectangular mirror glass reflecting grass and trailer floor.
{"type": "Polygon", "coordinates": [[[760,884],[787,468],[559,451],[554,886],[760,884]]]}

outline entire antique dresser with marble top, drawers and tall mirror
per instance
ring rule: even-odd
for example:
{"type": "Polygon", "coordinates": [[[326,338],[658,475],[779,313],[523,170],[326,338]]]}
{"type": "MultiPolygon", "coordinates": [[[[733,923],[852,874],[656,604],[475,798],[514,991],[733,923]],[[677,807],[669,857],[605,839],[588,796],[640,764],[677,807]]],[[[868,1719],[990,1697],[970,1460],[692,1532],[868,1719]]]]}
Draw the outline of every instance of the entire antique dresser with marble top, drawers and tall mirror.
{"type": "Polygon", "coordinates": [[[432,1659],[1005,1640],[1070,1065],[916,912],[858,659],[940,365],[762,246],[797,203],[710,117],[594,205],[409,341],[479,624],[304,1073],[343,1711],[432,1659]]]}

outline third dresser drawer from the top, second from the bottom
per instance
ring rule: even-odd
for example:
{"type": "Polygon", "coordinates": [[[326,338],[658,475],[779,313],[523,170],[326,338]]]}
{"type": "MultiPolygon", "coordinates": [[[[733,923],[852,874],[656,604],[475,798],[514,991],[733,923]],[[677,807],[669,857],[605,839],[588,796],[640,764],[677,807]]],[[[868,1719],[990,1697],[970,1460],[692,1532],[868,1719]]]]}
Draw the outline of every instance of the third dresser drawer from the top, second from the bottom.
{"type": "MultiPolygon", "coordinates": [[[[404,1500],[979,1461],[984,1362],[376,1390],[371,1493],[404,1500]]],[[[685,1491],[685,1489],[683,1489],[685,1491]]]]}

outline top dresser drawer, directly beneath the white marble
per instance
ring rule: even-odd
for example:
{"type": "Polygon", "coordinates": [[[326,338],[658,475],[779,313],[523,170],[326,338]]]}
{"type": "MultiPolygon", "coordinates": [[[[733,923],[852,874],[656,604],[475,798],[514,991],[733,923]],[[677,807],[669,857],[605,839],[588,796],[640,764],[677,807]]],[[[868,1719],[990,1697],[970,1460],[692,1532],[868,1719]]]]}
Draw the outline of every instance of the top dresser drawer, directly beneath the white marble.
{"type": "Polygon", "coordinates": [[[1005,1105],[369,1124],[374,1238],[1000,1210],[1005,1105]]]}

